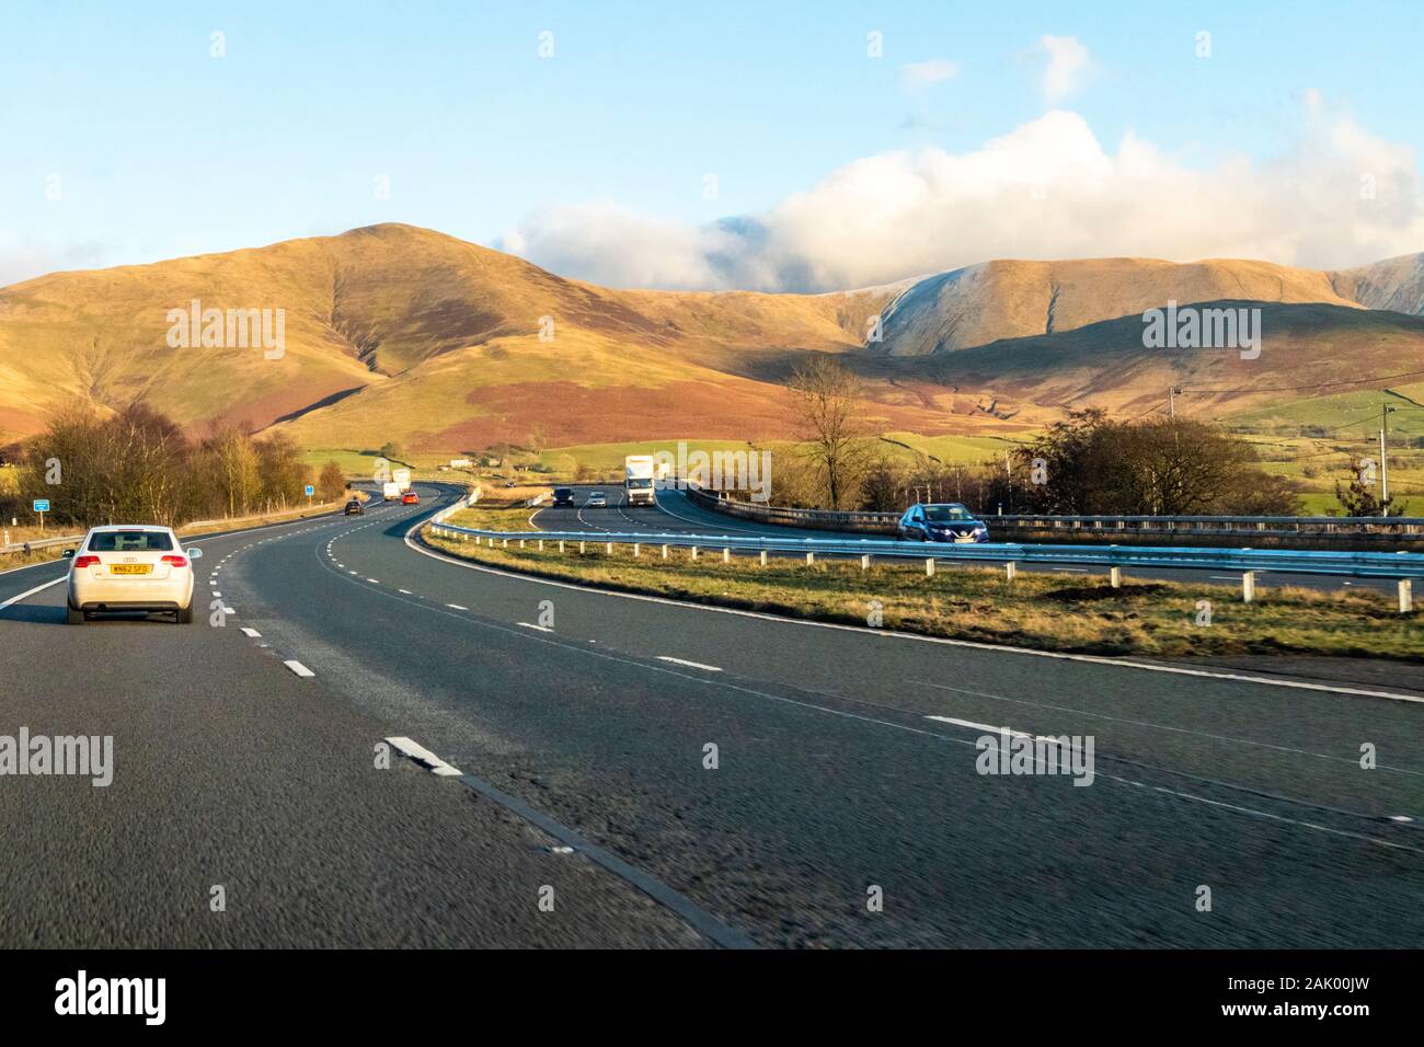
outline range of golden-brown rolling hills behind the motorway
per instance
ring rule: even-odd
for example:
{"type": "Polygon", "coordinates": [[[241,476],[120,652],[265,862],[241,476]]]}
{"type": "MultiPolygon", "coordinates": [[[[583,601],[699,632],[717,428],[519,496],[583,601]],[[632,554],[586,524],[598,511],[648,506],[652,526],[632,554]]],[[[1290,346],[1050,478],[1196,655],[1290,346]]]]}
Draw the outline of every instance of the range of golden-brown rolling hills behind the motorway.
{"type": "MultiPolygon", "coordinates": [[[[145,399],[303,446],[473,450],[498,442],[776,439],[809,352],[867,380],[887,430],[988,434],[1064,406],[1260,410],[1424,372],[1424,262],[1341,272],[1267,262],[995,261],[823,295],[615,291],[409,225],[0,289],[0,442],[70,399],[145,399]],[[169,309],[283,309],[285,353],[169,348],[169,309]],[[1260,308],[1263,352],[1152,350],[1143,309],[1260,308]],[[883,316],[883,340],[866,340],[883,316]],[[1331,383],[1344,383],[1331,385],[1331,383]]],[[[1403,380],[1403,379],[1401,379],[1403,380]]],[[[1414,379],[1417,380],[1417,379],[1414,379]]]]}

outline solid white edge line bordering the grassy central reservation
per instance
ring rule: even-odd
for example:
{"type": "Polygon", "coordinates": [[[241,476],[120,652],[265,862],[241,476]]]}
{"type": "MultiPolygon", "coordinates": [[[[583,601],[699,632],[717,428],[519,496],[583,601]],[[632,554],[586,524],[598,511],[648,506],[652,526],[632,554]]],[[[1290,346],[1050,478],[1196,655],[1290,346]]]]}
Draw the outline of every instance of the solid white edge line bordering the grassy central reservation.
{"type": "Polygon", "coordinates": [[[431,560],[439,560],[446,564],[454,564],[456,567],[464,567],[471,571],[483,571],[484,574],[496,574],[501,578],[514,578],[515,581],[533,583],[535,585],[551,585],[554,588],[567,588],[578,593],[592,593],[597,595],[611,597],[617,600],[641,600],[648,604],[668,604],[672,607],[685,607],[692,611],[705,611],[709,614],[732,614],[739,618],[758,618],[760,621],[775,621],[783,625],[797,625],[803,628],[823,628],[823,630],[839,630],[842,632],[862,632],[873,637],[883,637],[887,640],[910,640],[918,644],[941,644],[944,647],[965,647],[975,651],[997,651],[1000,654],[1021,654],[1031,658],[1054,658],[1057,661],[1079,661],[1089,662],[1094,665],[1116,665],[1119,668],[1141,670],[1143,672],[1169,672],[1179,677],[1198,677],[1205,679],[1226,679],[1237,684],[1262,684],[1265,687],[1287,687],[1297,691],[1323,691],[1326,694],[1349,694],[1358,698],[1388,698],[1397,702],[1415,702],[1424,705],[1424,698],[1411,694],[1396,694],[1393,691],[1370,691],[1360,687],[1331,687],[1329,684],[1310,684],[1304,679],[1272,679],[1270,677],[1252,677],[1245,672],[1218,672],[1215,670],[1189,670],[1182,665],[1153,665],[1152,662],[1126,661],[1122,658],[1109,658],[1099,654],[1071,654],[1068,651],[1035,651],[1030,647],[1011,647],[1008,644],[984,644],[974,640],[951,640],[948,637],[921,637],[916,632],[899,632],[896,630],[886,628],[870,628],[867,625],[844,625],[834,621],[807,621],[805,618],[786,618],[779,614],[766,614],[763,611],[743,611],[736,607],[712,607],[709,604],[693,604],[686,600],[672,600],[669,597],[654,597],[646,593],[615,593],[607,588],[598,588],[595,585],[578,585],[570,581],[555,581],[553,578],[537,578],[530,574],[520,574],[518,571],[503,571],[497,567],[486,567],[484,564],[473,564],[464,560],[457,560],[456,557],[444,556],[443,553],[436,553],[429,548],[422,548],[420,544],[412,537],[420,527],[424,526],[423,521],[406,531],[406,547],[420,553],[420,556],[427,556],[431,560]]]}

